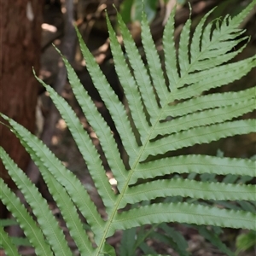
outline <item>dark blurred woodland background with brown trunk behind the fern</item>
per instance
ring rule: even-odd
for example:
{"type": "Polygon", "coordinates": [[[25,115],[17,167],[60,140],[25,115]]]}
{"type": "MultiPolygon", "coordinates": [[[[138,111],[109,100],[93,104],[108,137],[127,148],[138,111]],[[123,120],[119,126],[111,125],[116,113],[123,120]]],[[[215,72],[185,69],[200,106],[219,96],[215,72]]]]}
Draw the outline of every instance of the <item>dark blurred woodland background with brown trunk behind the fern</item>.
{"type": "MultiPolygon", "coordinates": [[[[91,83],[90,76],[86,71],[85,62],[79,51],[73,23],[78,26],[85,43],[101,66],[109,83],[122,101],[123,92],[119,87],[119,80],[113,68],[113,59],[109,49],[108,30],[105,20],[107,9],[113,26],[115,26],[116,9],[119,10],[138,47],[141,46],[140,23],[141,11],[144,8],[148,15],[148,22],[151,26],[154,42],[160,55],[162,51],[161,37],[163,27],[175,4],[177,4],[176,15],[176,39],[181,31],[185,20],[189,17],[189,4],[191,6],[192,28],[210,9],[217,7],[212,13],[210,20],[222,17],[226,14],[236,15],[250,0],[0,0],[1,14],[1,44],[0,44],[0,112],[7,114],[12,119],[33,133],[36,133],[46,143],[60,160],[79,178],[90,190],[91,196],[97,195],[90,176],[86,171],[84,160],[73,142],[65,122],[60,119],[49,97],[40,87],[32,74],[32,67],[46,84],[50,84],[57,90],[75,109],[79,115],[84,129],[90,133],[98,150],[101,150],[97,137],[90,129],[90,125],[81,114],[78,104],[75,102],[72,90],[67,82],[66,71],[62,65],[60,55],[55,51],[52,44],[61,49],[61,52],[71,61],[79,75],[84,88],[95,101],[97,108],[113,130],[113,134],[119,139],[115,131],[107,109],[91,83]],[[188,3],[189,2],[189,3],[188,3]],[[115,6],[115,8],[113,7],[115,6]]],[[[251,37],[247,49],[237,57],[244,59],[256,53],[256,9],[247,15],[247,19],[241,27],[247,30],[251,37]]],[[[118,28],[116,27],[117,31],[118,28]]],[[[142,50],[143,55],[143,50],[142,50]]],[[[241,81],[229,84],[221,90],[240,90],[255,85],[255,69],[241,81]]],[[[250,113],[253,115],[254,113],[250,113]]],[[[3,121],[1,119],[1,121],[3,121]]],[[[0,124],[0,145],[10,154],[15,162],[26,171],[34,183],[51,204],[55,214],[58,210],[52,201],[44,182],[41,180],[38,169],[29,160],[28,154],[20,146],[17,139],[11,132],[0,124]]],[[[221,152],[230,157],[251,157],[255,154],[256,138],[253,135],[232,137],[211,143],[211,147],[186,148],[188,153],[201,153],[216,155],[221,152]],[[238,146],[239,145],[239,146],[238,146]]],[[[103,156],[102,156],[103,157],[103,156]]],[[[111,180],[111,170],[105,163],[106,172],[111,180]]],[[[11,182],[7,172],[0,162],[1,177],[9,183],[12,189],[15,184],[11,182]]],[[[98,205],[101,206],[101,201],[98,205]]],[[[6,218],[7,212],[1,207],[0,218],[6,218]]],[[[180,227],[181,232],[189,241],[189,250],[193,255],[224,255],[216,247],[208,243],[191,228],[180,227]]],[[[13,230],[12,232],[19,232],[13,230]]],[[[222,240],[230,248],[234,248],[236,236],[242,230],[226,230],[222,240]]],[[[112,238],[112,244],[119,244],[120,235],[112,238]]],[[[155,241],[151,241],[154,243],[155,241]]],[[[155,243],[155,247],[160,247],[155,243]]],[[[160,253],[177,255],[172,253],[172,248],[160,248],[160,253]],[[162,251],[161,251],[162,249],[162,251]],[[168,251],[169,249],[169,251],[168,251]]],[[[253,252],[252,252],[253,253],[253,252]]],[[[243,254],[254,255],[254,254],[243,254]]]]}

